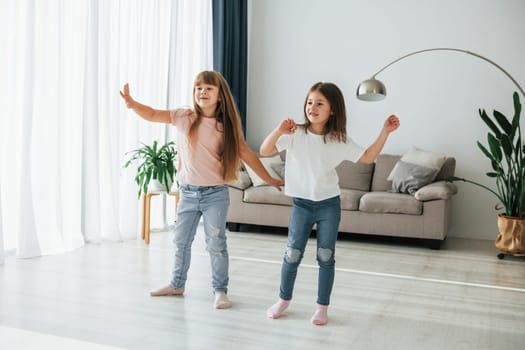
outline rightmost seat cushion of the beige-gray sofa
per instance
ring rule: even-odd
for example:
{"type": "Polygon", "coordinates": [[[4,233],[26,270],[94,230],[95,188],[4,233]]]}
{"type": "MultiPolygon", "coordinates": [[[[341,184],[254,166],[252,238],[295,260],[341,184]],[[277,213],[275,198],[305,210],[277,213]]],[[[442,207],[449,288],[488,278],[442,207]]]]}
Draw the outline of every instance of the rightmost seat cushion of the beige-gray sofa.
{"type": "Polygon", "coordinates": [[[423,202],[404,193],[369,192],[361,197],[359,210],[366,213],[421,215],[423,202]]]}

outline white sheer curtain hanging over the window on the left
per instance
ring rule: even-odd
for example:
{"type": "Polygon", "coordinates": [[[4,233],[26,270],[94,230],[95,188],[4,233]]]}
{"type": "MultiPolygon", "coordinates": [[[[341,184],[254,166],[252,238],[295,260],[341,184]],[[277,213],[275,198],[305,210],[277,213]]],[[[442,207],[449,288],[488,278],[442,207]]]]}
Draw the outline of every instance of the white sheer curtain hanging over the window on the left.
{"type": "Polygon", "coordinates": [[[125,153],[171,132],[118,92],[129,82],[156,108],[191,104],[194,75],[212,67],[211,0],[2,0],[0,11],[0,256],[136,238],[125,153]]]}

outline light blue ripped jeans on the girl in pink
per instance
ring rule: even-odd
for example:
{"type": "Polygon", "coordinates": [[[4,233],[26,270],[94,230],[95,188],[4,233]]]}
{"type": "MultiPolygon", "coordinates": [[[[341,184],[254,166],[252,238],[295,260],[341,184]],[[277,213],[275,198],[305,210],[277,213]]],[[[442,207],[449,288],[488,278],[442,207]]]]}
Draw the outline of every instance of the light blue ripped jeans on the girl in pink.
{"type": "Polygon", "coordinates": [[[191,245],[202,216],[206,236],[206,250],[210,254],[212,287],[214,292],[228,291],[228,247],[226,244],[226,216],[230,205],[228,187],[179,187],[180,201],[175,224],[175,263],[172,288],[184,288],[191,262],[191,245]]]}

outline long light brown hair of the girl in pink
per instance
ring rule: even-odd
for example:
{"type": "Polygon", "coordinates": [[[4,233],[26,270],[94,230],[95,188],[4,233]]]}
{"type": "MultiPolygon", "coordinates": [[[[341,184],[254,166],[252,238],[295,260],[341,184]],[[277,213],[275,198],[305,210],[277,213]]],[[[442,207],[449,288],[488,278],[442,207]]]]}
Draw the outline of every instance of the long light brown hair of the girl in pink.
{"type": "Polygon", "coordinates": [[[200,84],[209,84],[219,88],[219,102],[215,109],[215,120],[217,128],[223,131],[223,150],[221,154],[221,162],[223,167],[223,177],[225,181],[235,180],[237,177],[237,170],[240,166],[239,148],[241,142],[244,140],[242,133],[241,118],[237,105],[233,100],[228,82],[221,73],[215,71],[203,71],[197,74],[193,83],[193,108],[197,116],[192,123],[189,131],[190,146],[195,145],[197,128],[202,119],[202,110],[195,100],[195,88],[200,84]]]}

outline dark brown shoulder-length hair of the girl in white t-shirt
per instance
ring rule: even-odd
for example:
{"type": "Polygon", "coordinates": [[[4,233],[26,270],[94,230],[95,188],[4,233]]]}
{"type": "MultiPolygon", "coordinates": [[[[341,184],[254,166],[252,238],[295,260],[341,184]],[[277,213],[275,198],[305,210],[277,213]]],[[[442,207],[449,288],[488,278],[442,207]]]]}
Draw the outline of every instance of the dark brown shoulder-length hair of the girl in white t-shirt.
{"type": "Polygon", "coordinates": [[[341,90],[334,83],[315,83],[304,100],[303,112],[304,112],[304,130],[308,132],[310,126],[310,120],[306,115],[306,104],[308,103],[308,96],[314,92],[320,92],[330,103],[331,116],[327,120],[324,126],[324,142],[327,140],[335,142],[346,142],[346,107],[345,98],[341,90]]]}

